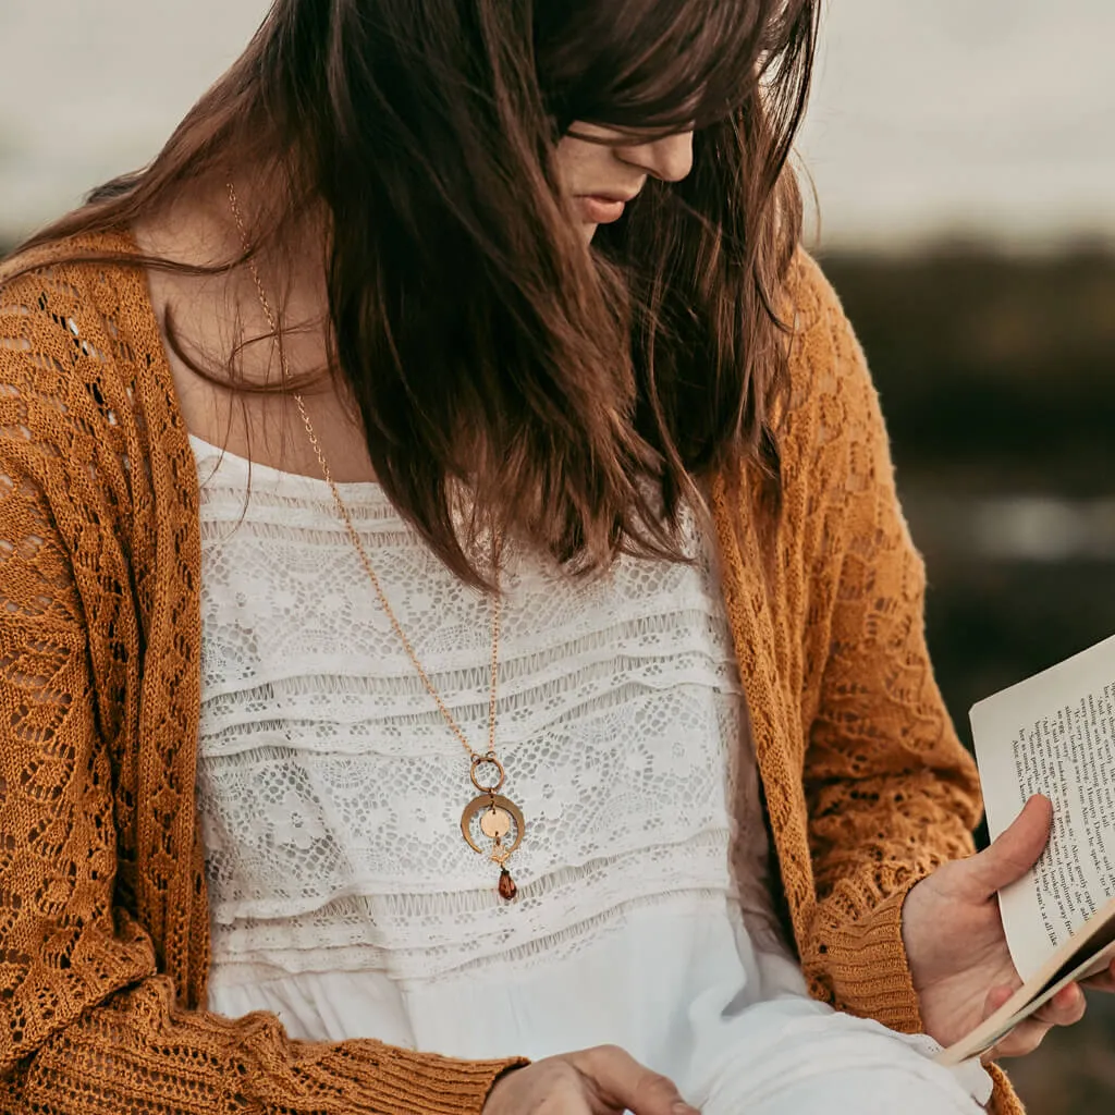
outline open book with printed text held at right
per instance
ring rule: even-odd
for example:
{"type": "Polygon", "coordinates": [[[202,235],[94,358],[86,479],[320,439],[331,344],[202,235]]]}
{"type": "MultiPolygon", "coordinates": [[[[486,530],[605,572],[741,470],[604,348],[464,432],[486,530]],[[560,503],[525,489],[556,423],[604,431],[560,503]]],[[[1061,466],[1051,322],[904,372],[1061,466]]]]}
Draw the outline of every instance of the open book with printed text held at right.
{"type": "Polygon", "coordinates": [[[1054,821],[1035,867],[999,892],[1022,986],[938,1056],[947,1065],[987,1051],[1115,957],[1115,637],[980,701],[971,723],[992,840],[1034,794],[1053,802],[1054,821]]]}

